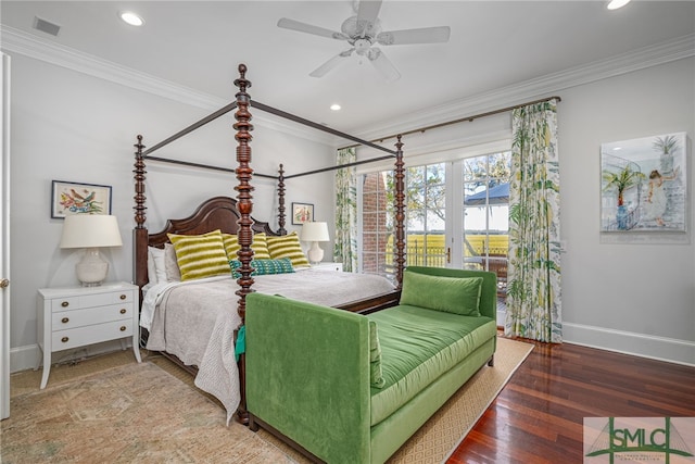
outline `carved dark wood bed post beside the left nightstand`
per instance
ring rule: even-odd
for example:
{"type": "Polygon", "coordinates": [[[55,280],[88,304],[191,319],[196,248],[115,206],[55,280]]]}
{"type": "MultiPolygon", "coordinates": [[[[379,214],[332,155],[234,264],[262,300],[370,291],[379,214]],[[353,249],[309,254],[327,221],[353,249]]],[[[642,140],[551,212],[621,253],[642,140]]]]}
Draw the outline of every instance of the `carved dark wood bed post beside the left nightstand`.
{"type": "MultiPolygon", "coordinates": [[[[132,241],[135,247],[132,248],[132,266],[135,274],[135,283],[140,289],[142,286],[147,284],[147,278],[149,276],[148,273],[148,229],[144,226],[144,222],[147,221],[147,216],[144,212],[147,211],[147,206],[144,205],[144,200],[147,197],[144,196],[144,178],[147,171],[144,170],[144,156],[142,155],[142,150],[144,146],[142,145],[142,136],[138,135],[138,142],[134,145],[137,149],[135,152],[135,170],[134,179],[135,179],[135,229],[132,231],[132,241]],[[147,277],[147,278],[146,278],[147,277]]],[[[140,301],[142,301],[142,294],[140,294],[140,301]]]]}

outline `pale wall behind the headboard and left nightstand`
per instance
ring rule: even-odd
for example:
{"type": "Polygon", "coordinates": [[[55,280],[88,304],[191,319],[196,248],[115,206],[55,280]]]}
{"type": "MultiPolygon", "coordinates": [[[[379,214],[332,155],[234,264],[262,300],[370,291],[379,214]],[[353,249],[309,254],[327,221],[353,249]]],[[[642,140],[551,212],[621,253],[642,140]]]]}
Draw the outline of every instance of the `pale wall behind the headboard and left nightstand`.
{"type": "MultiPolygon", "coordinates": [[[[104,250],[111,261],[109,279],[131,281],[136,135],[142,134],[144,145],[152,146],[211,111],[22,54],[13,57],[12,73],[11,348],[14,372],[34,366],[39,356],[37,289],[78,284],[74,264],[79,252],[59,248],[63,221],[50,215],[51,180],[113,187],[112,213],[118,217],[124,243],[122,248],[104,250]]],[[[230,96],[235,91],[230,88],[230,96]]],[[[231,124],[230,114],[153,155],[233,167],[236,141],[231,124]]],[[[325,143],[264,127],[255,120],[254,125],[252,167],[257,173],[275,175],[280,162],[285,163],[288,175],[334,164],[334,150],[325,143]]],[[[159,231],[166,218],[190,214],[206,198],[237,196],[233,174],[155,162],[149,163],[147,171],[147,224],[153,231],[159,231]]],[[[332,174],[291,179],[286,184],[289,230],[296,229],[289,218],[292,201],[314,203],[317,220],[333,223],[332,174]]],[[[275,183],[256,177],[253,185],[253,215],[276,227],[275,183]]],[[[326,259],[330,259],[330,253],[326,259]]]]}

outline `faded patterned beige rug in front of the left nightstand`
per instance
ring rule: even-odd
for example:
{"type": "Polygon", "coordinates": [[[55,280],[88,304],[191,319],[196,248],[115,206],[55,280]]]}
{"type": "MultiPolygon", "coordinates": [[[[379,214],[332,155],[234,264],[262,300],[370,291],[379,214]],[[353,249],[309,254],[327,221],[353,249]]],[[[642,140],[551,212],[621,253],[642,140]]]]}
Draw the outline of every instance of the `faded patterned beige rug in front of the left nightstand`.
{"type": "Polygon", "coordinates": [[[150,362],[37,387],[11,399],[3,464],[293,462],[248,428],[226,427],[222,407],[150,362]]]}

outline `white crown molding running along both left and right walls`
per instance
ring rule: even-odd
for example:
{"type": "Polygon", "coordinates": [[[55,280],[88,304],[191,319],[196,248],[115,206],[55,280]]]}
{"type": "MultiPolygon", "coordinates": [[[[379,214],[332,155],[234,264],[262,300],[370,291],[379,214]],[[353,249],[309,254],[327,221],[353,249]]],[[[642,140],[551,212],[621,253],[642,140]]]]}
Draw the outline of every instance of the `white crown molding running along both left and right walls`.
{"type": "MultiPolygon", "coordinates": [[[[94,55],[79,52],[70,47],[27,34],[20,29],[0,26],[1,48],[3,51],[20,53],[36,60],[66,67],[83,74],[164,97],[177,102],[216,111],[229,103],[228,100],[204,93],[169,80],[117,65],[94,55]]],[[[415,129],[422,125],[439,124],[464,118],[469,115],[519,104],[528,100],[549,97],[554,92],[591,84],[602,79],[632,73],[660,64],[670,63],[695,55],[695,34],[690,34],[654,46],[637,49],[621,55],[596,61],[586,65],[571,67],[535,79],[525,80],[511,86],[477,96],[456,99],[429,110],[418,111],[417,117],[405,117],[388,125],[362,127],[351,130],[364,139],[376,139],[383,134],[394,134],[415,129]]],[[[412,113],[415,114],[415,113],[412,113]]],[[[308,140],[337,146],[337,137],[290,123],[275,116],[254,114],[254,124],[274,130],[291,134],[308,140]]]]}

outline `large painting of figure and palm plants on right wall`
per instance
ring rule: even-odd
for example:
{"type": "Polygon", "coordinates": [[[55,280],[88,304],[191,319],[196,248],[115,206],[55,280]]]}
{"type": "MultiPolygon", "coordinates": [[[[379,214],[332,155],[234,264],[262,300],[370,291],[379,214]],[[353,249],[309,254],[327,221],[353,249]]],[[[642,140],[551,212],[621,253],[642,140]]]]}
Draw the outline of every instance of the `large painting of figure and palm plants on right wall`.
{"type": "Polygon", "coordinates": [[[687,139],[664,134],[601,146],[601,230],[686,231],[687,139]]]}

